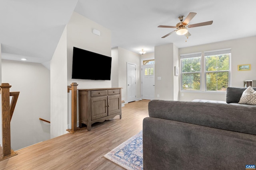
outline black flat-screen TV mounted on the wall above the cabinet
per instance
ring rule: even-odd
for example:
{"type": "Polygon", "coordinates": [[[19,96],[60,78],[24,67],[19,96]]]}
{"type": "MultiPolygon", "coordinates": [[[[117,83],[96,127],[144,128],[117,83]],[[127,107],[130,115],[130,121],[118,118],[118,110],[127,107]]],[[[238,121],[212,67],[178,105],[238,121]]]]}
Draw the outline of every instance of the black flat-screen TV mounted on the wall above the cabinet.
{"type": "Polygon", "coordinates": [[[111,61],[111,57],[74,47],[72,78],[110,80],[111,61]]]}

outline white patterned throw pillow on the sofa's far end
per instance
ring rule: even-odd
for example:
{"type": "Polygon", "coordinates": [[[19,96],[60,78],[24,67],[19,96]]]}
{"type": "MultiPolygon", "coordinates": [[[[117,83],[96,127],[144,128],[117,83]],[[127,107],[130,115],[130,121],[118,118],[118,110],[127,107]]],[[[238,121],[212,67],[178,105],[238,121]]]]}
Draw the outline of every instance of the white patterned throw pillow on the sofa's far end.
{"type": "Polygon", "coordinates": [[[256,91],[252,88],[252,86],[249,86],[246,90],[244,90],[238,103],[256,105],[256,91]]]}

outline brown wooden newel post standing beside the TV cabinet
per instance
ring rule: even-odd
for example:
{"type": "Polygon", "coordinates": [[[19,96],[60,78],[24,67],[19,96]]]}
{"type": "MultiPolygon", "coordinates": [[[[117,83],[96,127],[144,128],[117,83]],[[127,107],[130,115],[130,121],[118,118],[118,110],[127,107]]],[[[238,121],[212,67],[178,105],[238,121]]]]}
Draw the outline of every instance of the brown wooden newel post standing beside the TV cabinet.
{"type": "Polygon", "coordinates": [[[77,128],[77,83],[72,83],[70,84],[71,86],[68,86],[68,92],[70,90],[72,91],[72,96],[71,96],[71,129],[67,129],[66,131],[70,133],[76,133],[77,131],[80,131],[80,129],[77,128]]]}

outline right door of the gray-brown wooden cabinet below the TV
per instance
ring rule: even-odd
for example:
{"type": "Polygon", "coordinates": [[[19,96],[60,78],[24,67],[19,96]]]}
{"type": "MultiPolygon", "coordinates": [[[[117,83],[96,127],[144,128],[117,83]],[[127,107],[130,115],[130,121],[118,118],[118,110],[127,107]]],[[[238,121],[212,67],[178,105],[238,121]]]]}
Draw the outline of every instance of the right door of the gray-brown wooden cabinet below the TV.
{"type": "Polygon", "coordinates": [[[120,95],[108,96],[108,115],[120,112],[120,95]]]}

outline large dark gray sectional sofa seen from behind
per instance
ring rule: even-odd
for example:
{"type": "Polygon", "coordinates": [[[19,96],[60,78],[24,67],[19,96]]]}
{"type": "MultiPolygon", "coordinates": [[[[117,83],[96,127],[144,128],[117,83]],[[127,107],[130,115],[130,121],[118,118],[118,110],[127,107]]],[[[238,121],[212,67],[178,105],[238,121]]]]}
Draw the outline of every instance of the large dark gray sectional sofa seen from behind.
{"type": "Polygon", "coordinates": [[[256,164],[256,106],[238,104],[246,88],[228,88],[226,102],[151,100],[143,120],[144,170],[243,170],[256,164]]]}

